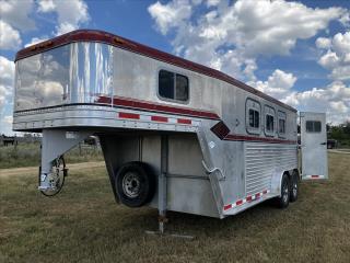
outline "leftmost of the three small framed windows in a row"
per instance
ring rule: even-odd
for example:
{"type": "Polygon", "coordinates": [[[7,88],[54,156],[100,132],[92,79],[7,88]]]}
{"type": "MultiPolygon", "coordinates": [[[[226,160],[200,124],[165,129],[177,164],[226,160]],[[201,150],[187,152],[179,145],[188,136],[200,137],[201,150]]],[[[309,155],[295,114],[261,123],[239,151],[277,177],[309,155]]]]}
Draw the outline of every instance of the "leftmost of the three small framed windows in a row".
{"type": "Polygon", "coordinates": [[[246,101],[246,129],[249,134],[260,134],[260,112],[261,106],[260,103],[254,101],[252,99],[247,99],[246,101]]]}

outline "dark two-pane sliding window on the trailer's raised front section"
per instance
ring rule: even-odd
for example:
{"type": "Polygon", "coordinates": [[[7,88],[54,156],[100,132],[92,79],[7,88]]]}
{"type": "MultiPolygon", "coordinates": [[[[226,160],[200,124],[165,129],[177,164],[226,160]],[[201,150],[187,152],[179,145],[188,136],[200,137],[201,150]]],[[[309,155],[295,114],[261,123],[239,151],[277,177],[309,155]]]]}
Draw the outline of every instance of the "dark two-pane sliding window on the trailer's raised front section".
{"type": "Polygon", "coordinates": [[[188,101],[188,78],[163,69],[160,70],[159,94],[164,99],[188,101]]]}

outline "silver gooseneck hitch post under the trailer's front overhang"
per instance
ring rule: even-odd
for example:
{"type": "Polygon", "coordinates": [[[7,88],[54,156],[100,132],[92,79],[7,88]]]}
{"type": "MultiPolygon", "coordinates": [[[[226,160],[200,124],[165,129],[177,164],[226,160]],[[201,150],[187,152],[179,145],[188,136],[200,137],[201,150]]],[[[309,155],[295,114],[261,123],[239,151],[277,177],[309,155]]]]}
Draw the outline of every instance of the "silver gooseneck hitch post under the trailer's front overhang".
{"type": "Polygon", "coordinates": [[[89,135],[91,135],[90,132],[66,132],[58,129],[43,130],[42,167],[39,169],[38,190],[55,190],[55,186],[52,186],[50,182],[52,162],[89,135]]]}

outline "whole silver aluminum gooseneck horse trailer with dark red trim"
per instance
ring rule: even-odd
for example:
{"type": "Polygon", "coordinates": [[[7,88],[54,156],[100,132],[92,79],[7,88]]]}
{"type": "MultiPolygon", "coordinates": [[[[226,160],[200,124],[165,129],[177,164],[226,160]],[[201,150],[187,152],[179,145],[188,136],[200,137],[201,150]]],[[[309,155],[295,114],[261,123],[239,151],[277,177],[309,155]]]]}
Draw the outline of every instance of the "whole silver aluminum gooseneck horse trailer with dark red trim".
{"type": "MultiPolygon", "coordinates": [[[[296,110],[228,75],[89,30],[20,50],[15,68],[13,129],[43,133],[46,195],[67,175],[62,155],[95,135],[130,207],[224,218],[298,198],[296,110]]],[[[302,178],[326,179],[324,114],[300,119],[302,178]]]]}

